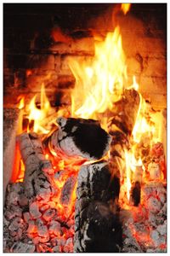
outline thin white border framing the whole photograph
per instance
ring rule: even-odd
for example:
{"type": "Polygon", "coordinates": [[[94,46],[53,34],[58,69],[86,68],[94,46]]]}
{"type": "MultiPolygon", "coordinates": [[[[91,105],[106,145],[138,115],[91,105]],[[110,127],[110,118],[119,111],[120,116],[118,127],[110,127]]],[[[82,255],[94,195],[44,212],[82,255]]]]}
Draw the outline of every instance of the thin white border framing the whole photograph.
{"type": "MultiPolygon", "coordinates": [[[[13,0],[6,0],[6,1],[1,1],[1,9],[0,9],[0,15],[1,15],[1,22],[0,22],[0,31],[3,33],[3,3],[48,3],[47,1],[40,1],[40,2],[37,2],[37,1],[33,1],[33,0],[30,0],[30,1],[13,1],[13,0]]],[[[51,0],[49,3],[121,3],[119,1],[53,1],[51,0]]],[[[122,3],[129,3],[129,1],[127,0],[124,0],[122,3]]],[[[130,3],[133,3],[132,1],[130,1],[130,3]]],[[[168,28],[168,25],[169,25],[169,20],[170,20],[170,17],[168,14],[170,14],[170,4],[167,2],[167,1],[149,1],[149,2],[146,2],[146,1],[135,1],[134,3],[167,3],[167,28],[168,28]]],[[[168,34],[168,29],[167,29],[167,60],[168,60],[168,57],[169,57],[169,52],[168,52],[168,44],[169,44],[169,34],[168,34]]],[[[2,53],[2,61],[1,61],[1,65],[2,65],[2,69],[1,69],[1,74],[0,74],[0,78],[1,78],[1,86],[0,86],[0,100],[1,100],[1,106],[3,106],[3,34],[2,34],[2,38],[0,40],[0,45],[1,45],[1,53],[2,53]]],[[[153,45],[154,47],[154,45],[153,45]]],[[[168,120],[170,119],[170,114],[169,114],[169,104],[168,104],[168,99],[169,99],[169,90],[168,90],[168,82],[169,82],[169,75],[168,75],[168,61],[167,61],[167,131],[168,131],[168,128],[169,128],[169,125],[168,125],[168,120]]],[[[169,84],[170,86],[170,84],[169,84]]],[[[1,148],[0,148],[0,152],[2,154],[1,155],[1,174],[2,174],[2,193],[0,194],[1,196],[1,201],[2,201],[2,214],[1,214],[1,223],[2,223],[2,228],[0,230],[0,253],[3,253],[3,108],[0,108],[1,109],[1,113],[0,113],[0,116],[1,116],[1,119],[0,119],[0,129],[1,129],[1,139],[2,139],[2,143],[1,143],[1,148]]],[[[168,153],[168,143],[169,143],[169,136],[168,136],[168,132],[167,132],[167,153],[168,153]]],[[[168,160],[168,154],[167,154],[167,167],[169,166],[169,160],[168,160]]],[[[168,169],[168,168],[167,168],[168,169]]],[[[169,172],[167,170],[167,252],[169,253],[169,245],[170,245],[170,239],[169,239],[169,229],[170,229],[170,225],[169,225],[169,207],[168,207],[168,199],[169,199],[169,189],[168,189],[168,182],[169,182],[169,172]]],[[[11,253],[3,253],[3,254],[11,254],[11,253]]],[[[21,255],[22,253],[20,253],[21,255]]],[[[32,254],[32,253],[26,253],[27,255],[28,254],[32,254]]],[[[38,253],[36,253],[38,254],[38,253]]],[[[47,253],[40,253],[41,255],[47,255],[47,253]]],[[[60,253],[50,253],[50,255],[59,255],[60,253]]],[[[76,254],[76,255],[81,255],[82,256],[82,253],[65,253],[65,255],[71,255],[71,254],[76,254]]],[[[88,254],[92,254],[92,253],[88,253],[88,254]]],[[[101,254],[104,254],[104,253],[99,253],[100,255],[101,254]]],[[[114,253],[114,255],[125,255],[125,254],[128,254],[128,253],[114,253]]],[[[145,255],[145,254],[149,254],[149,253],[133,253],[133,255],[145,255]]],[[[19,253],[12,253],[11,255],[19,255],[19,253]]],[[[94,253],[93,253],[94,255],[94,253]]],[[[156,255],[167,255],[167,253],[156,253],[156,255]]]]}

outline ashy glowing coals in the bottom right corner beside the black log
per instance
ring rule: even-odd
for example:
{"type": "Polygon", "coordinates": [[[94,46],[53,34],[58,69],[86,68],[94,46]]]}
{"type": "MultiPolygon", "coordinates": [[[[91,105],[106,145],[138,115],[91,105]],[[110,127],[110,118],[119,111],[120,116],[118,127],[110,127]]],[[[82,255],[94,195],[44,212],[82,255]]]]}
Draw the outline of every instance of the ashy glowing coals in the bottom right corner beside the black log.
{"type": "Polygon", "coordinates": [[[121,211],[124,253],[167,252],[167,202],[163,183],[142,187],[139,207],[121,211]],[[160,197],[165,195],[163,200],[160,197]]]}

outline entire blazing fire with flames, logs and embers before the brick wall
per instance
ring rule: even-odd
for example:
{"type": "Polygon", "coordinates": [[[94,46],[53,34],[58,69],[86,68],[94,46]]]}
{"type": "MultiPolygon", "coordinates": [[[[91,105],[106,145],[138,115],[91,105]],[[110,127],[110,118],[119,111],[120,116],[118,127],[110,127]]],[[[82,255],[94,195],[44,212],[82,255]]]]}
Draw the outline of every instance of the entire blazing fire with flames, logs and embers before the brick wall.
{"type": "MultiPolygon", "coordinates": [[[[127,15],[130,7],[118,9],[127,15]]],[[[59,27],[51,34],[74,42],[59,27]]],[[[54,108],[43,82],[30,103],[18,99],[4,252],[167,250],[165,114],[128,77],[121,27],[98,39],[93,57],[68,59],[71,106],[54,108]]]]}

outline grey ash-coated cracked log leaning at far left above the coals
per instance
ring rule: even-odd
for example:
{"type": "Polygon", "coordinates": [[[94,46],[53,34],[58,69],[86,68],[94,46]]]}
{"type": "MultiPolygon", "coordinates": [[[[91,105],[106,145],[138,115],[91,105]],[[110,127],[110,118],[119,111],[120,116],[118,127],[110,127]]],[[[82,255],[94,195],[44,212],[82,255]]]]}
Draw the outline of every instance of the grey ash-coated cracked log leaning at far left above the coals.
{"type": "Polygon", "coordinates": [[[44,193],[52,193],[52,188],[44,170],[53,169],[49,160],[45,160],[42,143],[36,133],[23,133],[18,137],[20,153],[25,164],[25,195],[28,198],[44,193]]]}

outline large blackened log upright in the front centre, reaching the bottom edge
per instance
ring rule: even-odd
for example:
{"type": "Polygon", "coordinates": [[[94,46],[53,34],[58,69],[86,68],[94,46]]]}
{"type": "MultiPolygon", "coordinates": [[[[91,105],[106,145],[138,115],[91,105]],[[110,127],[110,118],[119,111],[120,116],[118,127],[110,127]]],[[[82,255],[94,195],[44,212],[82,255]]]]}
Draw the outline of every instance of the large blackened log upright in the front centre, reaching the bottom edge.
{"type": "Polygon", "coordinates": [[[107,162],[81,167],[77,183],[75,252],[120,251],[122,227],[113,197],[113,180],[107,162]]]}

